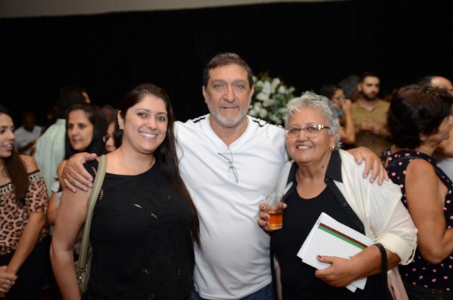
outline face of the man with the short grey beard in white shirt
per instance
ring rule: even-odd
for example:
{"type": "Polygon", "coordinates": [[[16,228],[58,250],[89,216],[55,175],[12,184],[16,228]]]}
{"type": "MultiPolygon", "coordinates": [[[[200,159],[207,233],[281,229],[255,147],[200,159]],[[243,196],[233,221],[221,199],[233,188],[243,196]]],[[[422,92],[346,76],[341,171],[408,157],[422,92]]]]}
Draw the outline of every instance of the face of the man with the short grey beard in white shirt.
{"type": "Polygon", "coordinates": [[[207,85],[203,86],[203,96],[213,121],[228,128],[246,121],[253,91],[246,69],[238,64],[211,69],[207,85]]]}

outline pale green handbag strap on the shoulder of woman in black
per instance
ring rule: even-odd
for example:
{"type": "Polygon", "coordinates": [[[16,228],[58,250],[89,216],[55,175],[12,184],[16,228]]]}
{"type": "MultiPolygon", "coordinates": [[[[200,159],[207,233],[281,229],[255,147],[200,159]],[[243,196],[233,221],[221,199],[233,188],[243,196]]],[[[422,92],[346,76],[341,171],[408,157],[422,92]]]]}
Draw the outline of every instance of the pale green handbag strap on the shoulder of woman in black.
{"type": "Polygon", "coordinates": [[[104,154],[99,157],[98,171],[96,173],[96,178],[94,178],[93,188],[91,189],[90,197],[88,198],[88,209],[86,211],[84,233],[82,235],[79,260],[77,260],[78,274],[79,272],[85,272],[86,270],[86,259],[88,257],[88,243],[90,241],[91,217],[93,217],[94,205],[98,200],[99,192],[101,192],[101,187],[104,181],[106,168],[107,168],[107,156],[105,156],[104,154]]]}

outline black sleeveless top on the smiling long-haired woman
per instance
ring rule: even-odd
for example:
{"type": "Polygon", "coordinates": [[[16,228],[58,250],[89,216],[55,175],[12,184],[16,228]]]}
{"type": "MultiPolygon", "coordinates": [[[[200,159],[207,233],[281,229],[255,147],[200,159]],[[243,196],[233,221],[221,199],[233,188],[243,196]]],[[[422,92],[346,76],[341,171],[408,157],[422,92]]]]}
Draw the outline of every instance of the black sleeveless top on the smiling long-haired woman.
{"type": "MultiPolygon", "coordinates": [[[[92,175],[97,167],[85,164],[92,175]]],[[[193,289],[191,228],[190,211],[159,163],[139,175],[105,174],[84,299],[185,299],[193,289]]]]}

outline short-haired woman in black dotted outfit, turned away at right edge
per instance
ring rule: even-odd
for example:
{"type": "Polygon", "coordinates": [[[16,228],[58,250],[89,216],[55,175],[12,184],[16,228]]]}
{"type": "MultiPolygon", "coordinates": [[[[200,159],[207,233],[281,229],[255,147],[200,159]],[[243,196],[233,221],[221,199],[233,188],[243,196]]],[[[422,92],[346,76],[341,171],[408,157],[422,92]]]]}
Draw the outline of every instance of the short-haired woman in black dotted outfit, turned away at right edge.
{"type": "Polygon", "coordinates": [[[453,185],[432,154],[449,137],[452,95],[406,86],[393,94],[387,124],[394,146],[382,155],[418,229],[413,262],[400,265],[410,299],[453,299],[453,185]]]}

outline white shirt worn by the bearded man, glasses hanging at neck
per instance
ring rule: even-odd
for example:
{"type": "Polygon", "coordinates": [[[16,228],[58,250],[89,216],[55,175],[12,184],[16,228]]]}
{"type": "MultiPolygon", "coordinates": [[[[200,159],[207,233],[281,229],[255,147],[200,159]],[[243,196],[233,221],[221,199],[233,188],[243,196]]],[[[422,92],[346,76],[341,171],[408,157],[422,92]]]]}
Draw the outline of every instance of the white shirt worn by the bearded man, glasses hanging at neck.
{"type": "Polygon", "coordinates": [[[194,281],[202,298],[241,299],[271,282],[270,240],[257,224],[258,204],[288,161],[285,131],[247,117],[246,131],[229,147],[209,114],[176,122],[180,173],[200,216],[194,281]]]}

